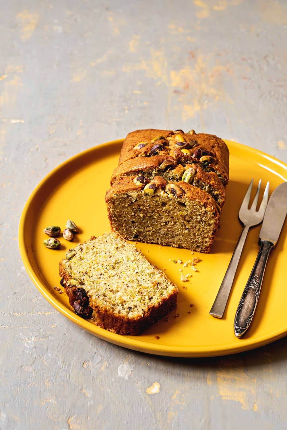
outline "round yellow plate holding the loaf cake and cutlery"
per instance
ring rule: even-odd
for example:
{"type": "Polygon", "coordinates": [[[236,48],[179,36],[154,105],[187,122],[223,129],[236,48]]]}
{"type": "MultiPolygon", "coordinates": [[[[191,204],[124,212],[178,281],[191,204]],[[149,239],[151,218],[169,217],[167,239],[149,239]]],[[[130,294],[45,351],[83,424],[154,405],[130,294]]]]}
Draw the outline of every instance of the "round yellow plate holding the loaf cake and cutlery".
{"type": "Polygon", "coordinates": [[[41,294],[82,329],[114,344],[147,353],[182,357],[217,356],[249,350],[286,335],[287,223],[271,252],[248,335],[240,340],[235,338],[233,319],[258,252],[260,226],[248,234],[224,318],[216,319],[209,315],[241,232],[237,214],[250,179],[254,178],[254,195],[260,178],[263,189],[270,181],[272,192],[287,177],[287,165],[281,161],[247,146],[230,141],[226,143],[230,150],[230,181],[220,229],[211,253],[194,252],[192,255],[185,249],[137,244],[144,255],[160,269],[165,269],[168,278],[178,286],[178,307],[168,315],[168,321],[162,319],[140,336],[116,335],[77,316],[67,296],[54,289],[60,287],[58,262],[67,249],[92,235],[110,230],[104,196],[110,187],[110,177],[119,159],[122,140],[100,145],[67,160],[40,182],[27,201],[19,227],[20,252],[27,272],[41,294]],[[43,228],[59,225],[63,229],[68,218],[80,227],[79,234],[70,243],[60,238],[59,250],[46,249],[43,240],[47,236],[43,228]],[[185,262],[192,256],[202,259],[196,266],[198,272],[173,262],[178,259],[185,262]],[[181,282],[180,273],[192,273],[192,277],[188,282],[181,282]],[[190,304],[193,306],[190,307],[190,304]],[[179,316],[174,318],[176,314],[179,316]]]}

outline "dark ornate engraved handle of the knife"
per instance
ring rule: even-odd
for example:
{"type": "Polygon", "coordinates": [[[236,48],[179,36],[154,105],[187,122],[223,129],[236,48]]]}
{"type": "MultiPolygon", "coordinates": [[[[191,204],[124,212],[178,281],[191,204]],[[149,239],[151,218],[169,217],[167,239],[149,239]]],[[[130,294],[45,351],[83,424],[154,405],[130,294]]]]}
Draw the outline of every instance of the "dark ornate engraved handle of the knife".
{"type": "Polygon", "coordinates": [[[258,302],[263,275],[269,253],[274,247],[274,243],[268,240],[260,240],[260,249],[251,270],[246,287],[242,293],[234,319],[234,333],[237,338],[241,338],[253,319],[258,302]]]}

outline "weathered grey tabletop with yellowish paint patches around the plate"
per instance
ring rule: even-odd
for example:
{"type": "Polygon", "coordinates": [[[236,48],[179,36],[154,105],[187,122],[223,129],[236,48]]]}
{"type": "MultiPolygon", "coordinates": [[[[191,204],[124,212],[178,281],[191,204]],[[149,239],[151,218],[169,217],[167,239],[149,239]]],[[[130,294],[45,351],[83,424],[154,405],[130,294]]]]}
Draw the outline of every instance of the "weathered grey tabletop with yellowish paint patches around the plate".
{"type": "Polygon", "coordinates": [[[0,428],[286,429],[286,338],[215,359],[108,344],[37,292],[17,230],[52,168],[136,128],[193,128],[286,161],[287,2],[10,0],[0,10],[0,428]]]}

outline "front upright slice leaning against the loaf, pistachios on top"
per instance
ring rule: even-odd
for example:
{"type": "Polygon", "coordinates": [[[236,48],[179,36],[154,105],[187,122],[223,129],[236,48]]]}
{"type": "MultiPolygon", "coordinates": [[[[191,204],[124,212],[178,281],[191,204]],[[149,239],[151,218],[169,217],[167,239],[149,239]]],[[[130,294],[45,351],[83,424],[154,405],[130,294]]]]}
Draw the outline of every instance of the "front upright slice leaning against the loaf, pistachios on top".
{"type": "Polygon", "coordinates": [[[122,177],[107,191],[112,229],[128,240],[209,252],[220,219],[214,199],[184,181],[141,176],[122,177]]]}

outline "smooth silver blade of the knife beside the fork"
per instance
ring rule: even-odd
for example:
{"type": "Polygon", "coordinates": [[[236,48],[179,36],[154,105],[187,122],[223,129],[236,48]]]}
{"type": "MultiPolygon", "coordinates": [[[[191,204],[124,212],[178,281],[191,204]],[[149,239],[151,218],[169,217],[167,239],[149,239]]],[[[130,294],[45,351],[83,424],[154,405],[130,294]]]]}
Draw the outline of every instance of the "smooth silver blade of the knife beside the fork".
{"type": "Polygon", "coordinates": [[[269,240],[274,245],[278,241],[287,214],[287,182],[273,191],[263,218],[259,233],[261,240],[269,240]]]}

